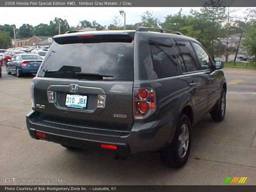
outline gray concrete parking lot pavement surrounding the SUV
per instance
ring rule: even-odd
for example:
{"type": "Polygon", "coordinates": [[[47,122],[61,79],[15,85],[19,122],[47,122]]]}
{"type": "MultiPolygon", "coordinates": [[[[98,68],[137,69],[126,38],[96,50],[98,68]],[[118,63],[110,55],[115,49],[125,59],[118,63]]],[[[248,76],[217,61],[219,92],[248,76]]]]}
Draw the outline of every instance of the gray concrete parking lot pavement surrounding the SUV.
{"type": "Polygon", "coordinates": [[[242,185],[256,184],[256,70],[223,69],[228,82],[224,121],[216,123],[206,115],[196,124],[187,164],[171,169],[157,153],[116,160],[108,153],[69,151],[30,138],[25,116],[31,110],[33,76],[17,78],[2,69],[0,185],[29,184],[6,183],[6,177],[62,179],[33,185],[224,185],[226,177],[247,177],[242,185]]]}

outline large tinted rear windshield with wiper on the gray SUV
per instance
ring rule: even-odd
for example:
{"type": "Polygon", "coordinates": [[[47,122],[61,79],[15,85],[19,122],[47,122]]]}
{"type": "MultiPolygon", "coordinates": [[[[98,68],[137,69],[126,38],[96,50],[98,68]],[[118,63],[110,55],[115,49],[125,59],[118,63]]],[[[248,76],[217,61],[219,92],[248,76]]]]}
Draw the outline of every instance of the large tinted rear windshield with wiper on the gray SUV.
{"type": "Polygon", "coordinates": [[[38,76],[133,80],[133,41],[72,44],[54,42],[38,76]]]}

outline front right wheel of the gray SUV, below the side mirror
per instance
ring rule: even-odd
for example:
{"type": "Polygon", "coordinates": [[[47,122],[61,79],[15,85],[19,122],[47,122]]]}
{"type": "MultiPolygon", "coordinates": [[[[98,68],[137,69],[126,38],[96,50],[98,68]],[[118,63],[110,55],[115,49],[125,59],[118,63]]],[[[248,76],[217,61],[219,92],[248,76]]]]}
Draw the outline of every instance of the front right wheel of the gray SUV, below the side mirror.
{"type": "Polygon", "coordinates": [[[220,99],[210,112],[213,121],[223,121],[226,114],[226,91],[222,88],[220,99]]]}

